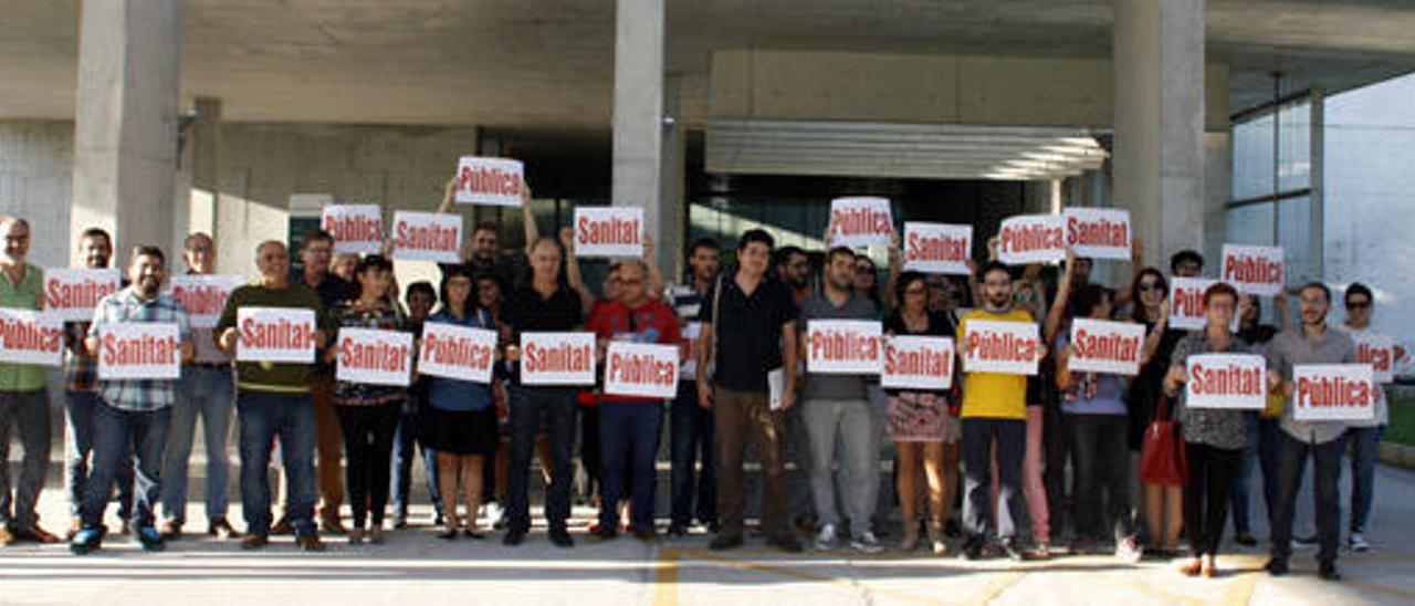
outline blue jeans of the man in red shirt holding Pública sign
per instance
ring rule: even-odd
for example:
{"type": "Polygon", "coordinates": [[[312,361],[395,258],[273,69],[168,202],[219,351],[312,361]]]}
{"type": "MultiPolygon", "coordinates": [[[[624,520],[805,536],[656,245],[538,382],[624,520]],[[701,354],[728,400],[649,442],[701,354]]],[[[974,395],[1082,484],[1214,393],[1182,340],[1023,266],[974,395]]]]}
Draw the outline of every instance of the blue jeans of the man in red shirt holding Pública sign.
{"type": "Polygon", "coordinates": [[[618,528],[618,503],[627,491],[634,530],[654,530],[654,459],[664,432],[661,402],[600,402],[600,528],[618,528]]]}

